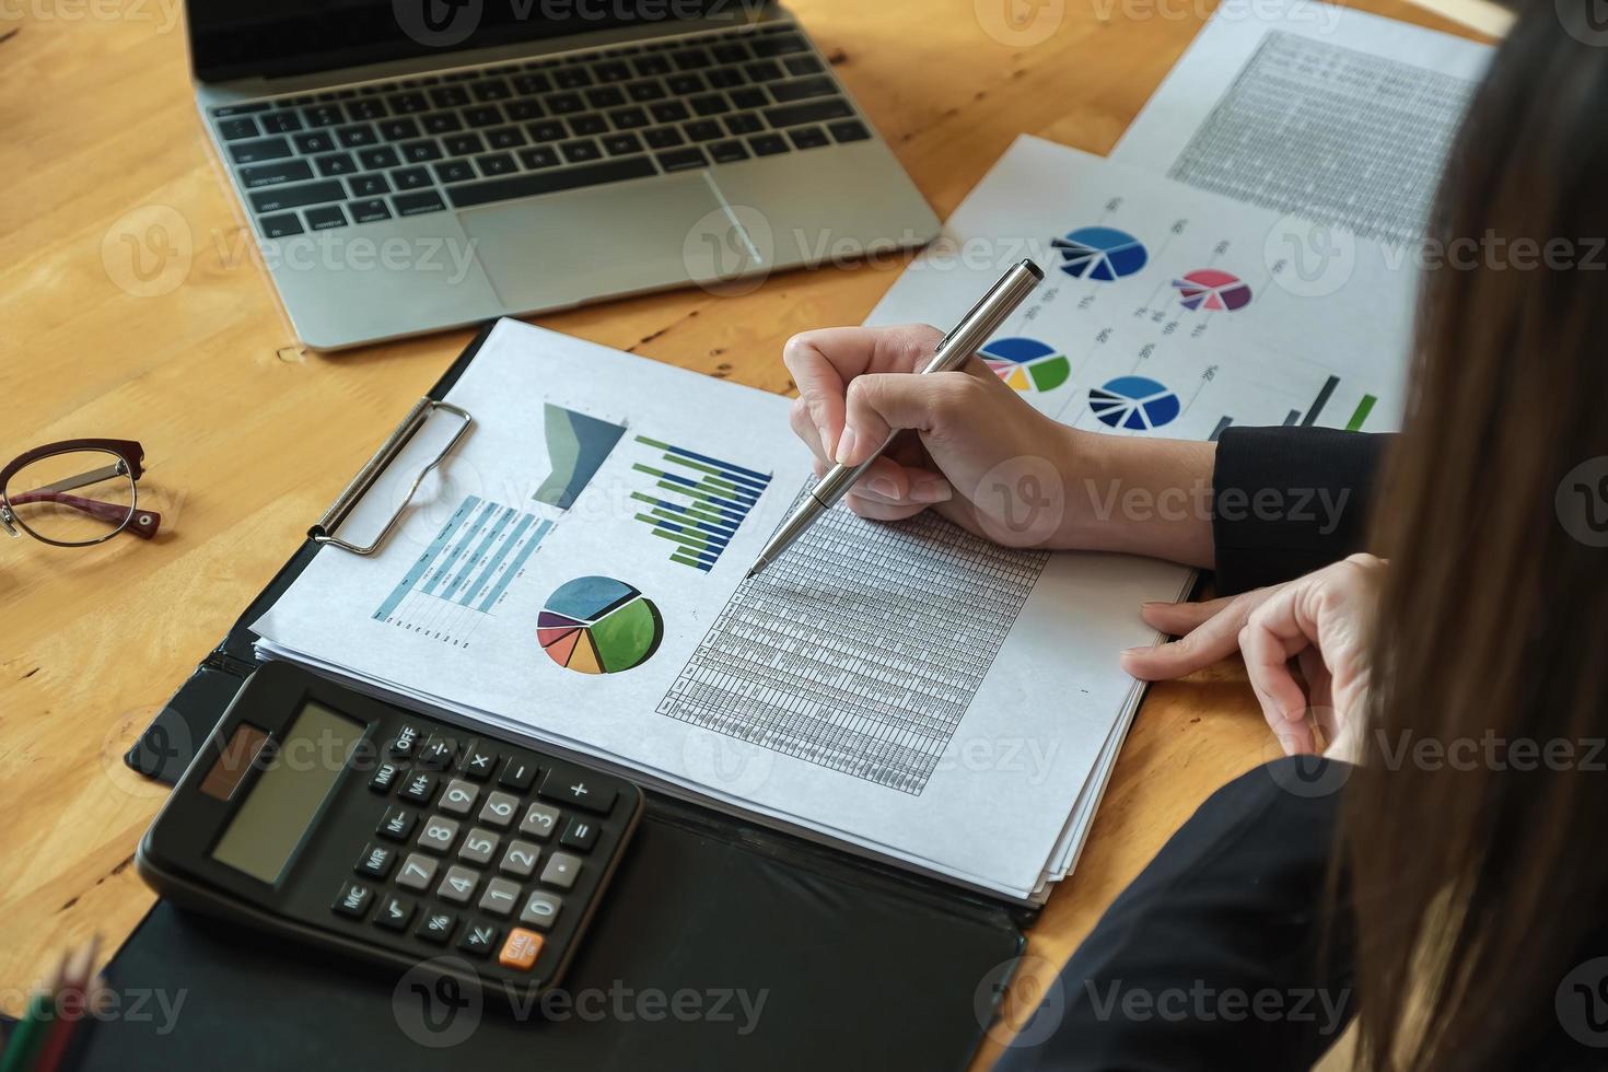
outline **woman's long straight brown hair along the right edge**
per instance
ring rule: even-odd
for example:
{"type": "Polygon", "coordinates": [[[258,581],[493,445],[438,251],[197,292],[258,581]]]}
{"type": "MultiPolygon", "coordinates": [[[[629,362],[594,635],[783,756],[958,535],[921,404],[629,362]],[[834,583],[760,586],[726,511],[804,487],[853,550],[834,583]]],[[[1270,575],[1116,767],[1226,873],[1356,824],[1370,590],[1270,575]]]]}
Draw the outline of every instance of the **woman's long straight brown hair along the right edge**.
{"type": "Polygon", "coordinates": [[[1608,955],[1608,461],[1565,481],[1608,455],[1608,35],[1579,37],[1552,0],[1520,14],[1431,222],[1457,264],[1425,276],[1375,514],[1391,569],[1338,857],[1364,1067],[1605,1064],[1555,1009],[1608,955]]]}

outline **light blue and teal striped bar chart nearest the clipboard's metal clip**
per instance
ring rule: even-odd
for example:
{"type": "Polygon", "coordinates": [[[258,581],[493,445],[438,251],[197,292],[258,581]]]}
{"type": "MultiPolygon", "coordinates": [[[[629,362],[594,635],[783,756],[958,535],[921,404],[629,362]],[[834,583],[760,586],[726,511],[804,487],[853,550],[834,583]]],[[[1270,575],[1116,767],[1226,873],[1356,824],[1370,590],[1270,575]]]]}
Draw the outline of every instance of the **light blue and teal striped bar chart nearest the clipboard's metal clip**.
{"type": "Polygon", "coordinates": [[[373,619],[468,646],[474,625],[497,608],[552,527],[515,506],[466,497],[373,619]]]}

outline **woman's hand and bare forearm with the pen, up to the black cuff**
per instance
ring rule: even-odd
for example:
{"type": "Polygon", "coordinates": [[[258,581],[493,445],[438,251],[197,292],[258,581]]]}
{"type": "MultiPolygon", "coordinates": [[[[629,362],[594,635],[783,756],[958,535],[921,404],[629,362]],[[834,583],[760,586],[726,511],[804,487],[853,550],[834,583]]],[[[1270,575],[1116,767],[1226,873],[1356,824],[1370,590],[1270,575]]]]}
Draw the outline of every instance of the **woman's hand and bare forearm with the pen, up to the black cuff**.
{"type": "Polygon", "coordinates": [[[1011,546],[1211,563],[1211,444],[1076,431],[1034,410],[978,358],[963,371],[912,376],[941,338],[910,325],[825,328],[788,341],[781,357],[799,389],[793,431],[815,453],[817,476],[865,461],[894,429],[918,432],[867,469],[849,509],[878,521],[937,509],[1011,546]]]}

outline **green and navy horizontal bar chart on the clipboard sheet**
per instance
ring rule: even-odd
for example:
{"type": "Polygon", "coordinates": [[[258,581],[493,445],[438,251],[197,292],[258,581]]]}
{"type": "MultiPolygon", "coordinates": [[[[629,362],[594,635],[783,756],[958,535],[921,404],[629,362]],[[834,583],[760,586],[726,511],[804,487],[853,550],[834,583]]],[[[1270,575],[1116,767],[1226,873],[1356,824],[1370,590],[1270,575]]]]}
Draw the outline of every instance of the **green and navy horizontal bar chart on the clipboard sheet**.
{"type": "Polygon", "coordinates": [[[653,482],[630,493],[637,521],[671,545],[672,563],[708,574],[770,485],[770,474],[646,436],[635,444],[645,460],[632,471],[653,482]]]}

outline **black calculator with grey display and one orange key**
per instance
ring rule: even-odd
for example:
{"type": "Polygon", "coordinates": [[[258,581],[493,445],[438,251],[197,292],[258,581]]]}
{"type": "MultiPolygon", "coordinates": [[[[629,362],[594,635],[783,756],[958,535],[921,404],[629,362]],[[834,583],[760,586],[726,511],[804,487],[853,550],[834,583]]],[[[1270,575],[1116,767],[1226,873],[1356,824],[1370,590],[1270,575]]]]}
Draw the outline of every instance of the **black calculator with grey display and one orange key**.
{"type": "Polygon", "coordinates": [[[269,662],[140,841],[162,897],[529,1000],[576,955],[642,791],[269,662]]]}

